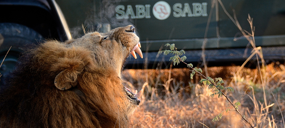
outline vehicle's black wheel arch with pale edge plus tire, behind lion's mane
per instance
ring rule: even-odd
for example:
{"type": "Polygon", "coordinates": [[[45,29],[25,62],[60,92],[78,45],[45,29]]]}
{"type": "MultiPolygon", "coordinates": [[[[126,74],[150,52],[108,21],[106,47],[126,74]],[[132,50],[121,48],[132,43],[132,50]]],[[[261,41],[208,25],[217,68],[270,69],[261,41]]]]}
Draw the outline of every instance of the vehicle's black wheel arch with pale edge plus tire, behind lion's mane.
{"type": "Polygon", "coordinates": [[[0,1],[1,83],[13,70],[20,53],[45,39],[71,39],[64,16],[54,0],[0,1]]]}

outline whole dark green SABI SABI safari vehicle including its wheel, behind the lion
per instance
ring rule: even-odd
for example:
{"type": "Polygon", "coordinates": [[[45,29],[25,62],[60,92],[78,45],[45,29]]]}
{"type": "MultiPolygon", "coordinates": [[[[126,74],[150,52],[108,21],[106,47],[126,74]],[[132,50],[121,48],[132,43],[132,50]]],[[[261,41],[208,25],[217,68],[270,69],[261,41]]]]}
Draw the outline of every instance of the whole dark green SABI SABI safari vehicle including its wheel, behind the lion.
{"type": "Polygon", "coordinates": [[[284,62],[284,0],[221,1],[224,7],[211,0],[1,0],[0,59],[12,49],[1,66],[0,78],[13,69],[27,44],[46,38],[65,41],[71,38],[70,32],[78,38],[83,29],[108,32],[129,24],[140,37],[144,58],[130,56],[126,68],[168,66],[169,56],[158,54],[166,43],[185,50],[187,62],[200,64],[205,39],[209,65],[239,64],[251,54],[251,47],[224,11],[233,16],[233,9],[244,30],[250,31],[248,14],[253,18],[256,46],[262,46],[264,59],[284,62]]]}

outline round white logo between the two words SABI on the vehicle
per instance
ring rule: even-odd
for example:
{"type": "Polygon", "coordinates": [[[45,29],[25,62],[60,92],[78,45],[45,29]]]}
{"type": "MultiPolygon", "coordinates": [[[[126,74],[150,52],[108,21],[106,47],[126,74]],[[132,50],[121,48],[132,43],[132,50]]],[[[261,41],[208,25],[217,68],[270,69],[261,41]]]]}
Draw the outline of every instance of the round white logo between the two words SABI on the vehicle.
{"type": "Polygon", "coordinates": [[[158,20],[165,20],[170,16],[170,5],[165,1],[158,1],[153,5],[152,13],[158,20]]]}

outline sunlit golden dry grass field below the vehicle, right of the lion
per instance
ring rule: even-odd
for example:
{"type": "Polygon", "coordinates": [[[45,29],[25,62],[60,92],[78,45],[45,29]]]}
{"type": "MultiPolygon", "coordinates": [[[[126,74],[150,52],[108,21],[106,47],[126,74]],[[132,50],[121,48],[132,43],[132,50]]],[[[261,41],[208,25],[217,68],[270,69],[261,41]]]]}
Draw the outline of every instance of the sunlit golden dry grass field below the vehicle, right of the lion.
{"type": "MultiPolygon", "coordinates": [[[[237,72],[240,67],[208,67],[208,73],[223,78],[225,87],[234,88],[226,95],[233,103],[241,102],[239,111],[254,127],[285,127],[284,64],[271,63],[261,70],[243,67],[237,72]]],[[[190,79],[189,70],[124,70],[122,76],[130,89],[144,88],[130,127],[250,127],[225,97],[209,97],[214,91],[199,83],[200,76],[190,79]],[[223,112],[227,108],[233,111],[223,112]],[[221,112],[222,119],[213,122],[221,112]]]]}

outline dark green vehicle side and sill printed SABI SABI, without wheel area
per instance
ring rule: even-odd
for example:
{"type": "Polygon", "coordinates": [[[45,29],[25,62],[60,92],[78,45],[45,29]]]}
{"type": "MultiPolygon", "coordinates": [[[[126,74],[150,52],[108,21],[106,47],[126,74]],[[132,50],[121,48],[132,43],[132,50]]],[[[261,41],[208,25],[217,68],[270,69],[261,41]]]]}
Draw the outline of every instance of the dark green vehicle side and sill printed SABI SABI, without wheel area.
{"type": "MultiPolygon", "coordinates": [[[[284,0],[221,2],[231,16],[234,16],[235,10],[239,24],[246,31],[251,31],[247,21],[250,14],[255,26],[256,46],[262,46],[263,57],[267,62],[284,62],[284,0]]],[[[78,0],[68,3],[57,0],[57,3],[72,33],[79,32],[74,37],[83,33],[82,24],[86,31],[101,32],[134,25],[141,40],[141,50],[145,53],[144,58],[129,57],[127,68],[155,68],[160,61],[164,66],[170,64],[169,56],[158,54],[160,49],[165,49],[166,43],[175,43],[177,49],[186,51],[186,61],[198,64],[201,63],[203,41],[207,38],[205,57],[211,66],[242,64],[252,51],[249,41],[242,38],[240,30],[224,12],[221,4],[213,3],[212,6],[211,0],[78,0]],[[238,40],[235,41],[236,38],[238,40]]]]}

